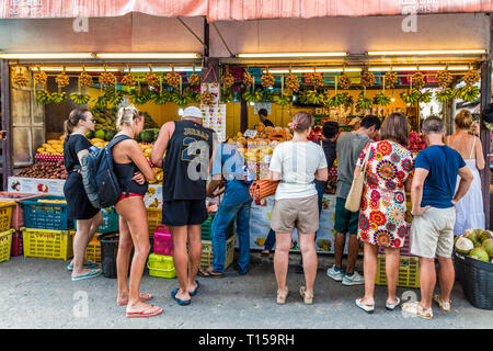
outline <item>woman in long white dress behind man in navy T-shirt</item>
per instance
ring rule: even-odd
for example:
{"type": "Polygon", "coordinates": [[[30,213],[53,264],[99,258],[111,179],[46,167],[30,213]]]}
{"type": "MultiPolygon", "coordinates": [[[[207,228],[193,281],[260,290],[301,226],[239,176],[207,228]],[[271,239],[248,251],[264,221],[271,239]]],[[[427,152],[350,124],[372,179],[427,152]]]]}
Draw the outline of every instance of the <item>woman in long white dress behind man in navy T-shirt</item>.
{"type": "MultiPolygon", "coordinates": [[[[481,178],[479,171],[484,169],[483,148],[479,137],[470,135],[472,115],[462,110],[455,120],[456,133],[448,136],[446,144],[462,156],[472,172],[473,179],[467,194],[456,204],[456,225],[454,236],[466,229],[484,229],[483,196],[481,194],[481,178]]],[[[457,182],[459,186],[459,182],[457,182]]]]}

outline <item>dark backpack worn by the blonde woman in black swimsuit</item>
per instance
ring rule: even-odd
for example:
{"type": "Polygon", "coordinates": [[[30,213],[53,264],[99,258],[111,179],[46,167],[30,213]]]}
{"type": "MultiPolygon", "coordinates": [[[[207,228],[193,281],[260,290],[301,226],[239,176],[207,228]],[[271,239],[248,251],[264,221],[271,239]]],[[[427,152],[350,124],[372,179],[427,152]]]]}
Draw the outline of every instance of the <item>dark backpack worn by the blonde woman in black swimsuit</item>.
{"type": "Polygon", "coordinates": [[[112,148],[125,139],[130,137],[118,135],[105,147],[81,158],[82,183],[89,201],[95,208],[113,206],[122,196],[122,189],[113,170],[112,148]]]}

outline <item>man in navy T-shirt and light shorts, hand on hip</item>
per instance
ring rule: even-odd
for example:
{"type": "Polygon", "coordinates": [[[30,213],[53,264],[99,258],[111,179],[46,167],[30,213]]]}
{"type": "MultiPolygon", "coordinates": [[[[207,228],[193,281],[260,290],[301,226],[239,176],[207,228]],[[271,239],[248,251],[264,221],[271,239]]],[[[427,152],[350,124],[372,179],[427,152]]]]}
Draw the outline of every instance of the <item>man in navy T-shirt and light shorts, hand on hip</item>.
{"type": "Polygon", "coordinates": [[[455,204],[467,193],[472,173],[460,154],[444,145],[445,125],[440,118],[427,117],[423,134],[427,148],[417,154],[411,188],[411,253],[420,257],[421,302],[405,303],[402,309],[432,319],[432,299],[442,310],[450,310],[455,282],[451,259],[455,204]],[[456,192],[457,176],[460,183],[456,192]],[[435,256],[439,264],[440,294],[432,296],[436,284],[435,256]]]}

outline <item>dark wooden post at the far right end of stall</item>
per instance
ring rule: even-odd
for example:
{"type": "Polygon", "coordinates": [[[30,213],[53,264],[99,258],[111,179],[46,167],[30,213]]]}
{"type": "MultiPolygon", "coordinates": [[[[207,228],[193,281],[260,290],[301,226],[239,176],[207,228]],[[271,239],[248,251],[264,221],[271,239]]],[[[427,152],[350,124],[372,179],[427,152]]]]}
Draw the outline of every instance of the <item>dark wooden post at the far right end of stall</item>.
{"type": "MultiPolygon", "coordinates": [[[[481,65],[481,112],[491,103],[491,61],[485,60],[481,65]]],[[[481,113],[480,122],[480,139],[481,146],[483,147],[483,154],[485,157],[485,166],[481,176],[481,190],[483,193],[483,204],[484,204],[484,218],[486,229],[490,228],[490,129],[488,129],[483,124],[483,115],[481,113]]]]}

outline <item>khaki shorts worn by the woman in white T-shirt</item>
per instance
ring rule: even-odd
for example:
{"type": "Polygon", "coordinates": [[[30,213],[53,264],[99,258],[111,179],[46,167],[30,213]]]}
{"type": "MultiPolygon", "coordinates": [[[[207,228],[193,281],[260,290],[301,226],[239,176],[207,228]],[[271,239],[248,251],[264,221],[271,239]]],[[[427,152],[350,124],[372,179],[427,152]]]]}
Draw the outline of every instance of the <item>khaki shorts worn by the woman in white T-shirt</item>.
{"type": "Polygon", "coordinates": [[[311,234],[319,229],[319,196],[283,199],[274,202],[271,228],[276,233],[311,234]]]}

